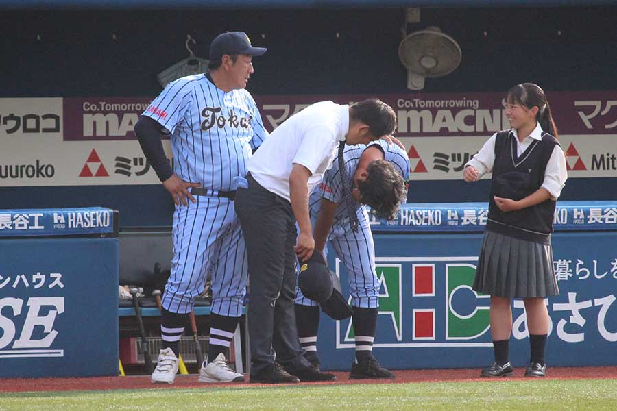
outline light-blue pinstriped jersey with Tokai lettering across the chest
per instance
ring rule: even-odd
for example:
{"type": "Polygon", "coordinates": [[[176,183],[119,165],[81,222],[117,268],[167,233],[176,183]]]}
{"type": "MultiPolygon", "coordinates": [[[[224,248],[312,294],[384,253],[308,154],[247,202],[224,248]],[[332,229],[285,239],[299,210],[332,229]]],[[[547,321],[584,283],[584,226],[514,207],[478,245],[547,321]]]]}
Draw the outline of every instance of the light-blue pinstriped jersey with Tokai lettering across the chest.
{"type": "Polygon", "coordinates": [[[211,190],[234,190],[267,136],[249,92],[223,92],[203,74],[169,83],[143,115],[171,133],[173,172],[211,190]]]}

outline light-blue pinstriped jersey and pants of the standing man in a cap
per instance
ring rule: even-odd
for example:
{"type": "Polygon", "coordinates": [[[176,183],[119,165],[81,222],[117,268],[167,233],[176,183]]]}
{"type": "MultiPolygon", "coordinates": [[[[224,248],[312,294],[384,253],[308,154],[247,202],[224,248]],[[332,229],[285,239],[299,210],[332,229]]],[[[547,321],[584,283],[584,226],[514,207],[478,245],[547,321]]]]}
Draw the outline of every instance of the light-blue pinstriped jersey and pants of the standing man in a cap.
{"type": "MultiPolygon", "coordinates": [[[[168,84],[143,115],[171,133],[173,172],[215,192],[237,188],[236,177],[245,177],[247,160],[267,136],[249,92],[224,92],[203,74],[168,84]]],[[[211,312],[240,316],[247,262],[233,202],[194,197],[196,203],[178,205],[173,213],[173,260],[162,305],[190,312],[210,274],[211,312]]]]}

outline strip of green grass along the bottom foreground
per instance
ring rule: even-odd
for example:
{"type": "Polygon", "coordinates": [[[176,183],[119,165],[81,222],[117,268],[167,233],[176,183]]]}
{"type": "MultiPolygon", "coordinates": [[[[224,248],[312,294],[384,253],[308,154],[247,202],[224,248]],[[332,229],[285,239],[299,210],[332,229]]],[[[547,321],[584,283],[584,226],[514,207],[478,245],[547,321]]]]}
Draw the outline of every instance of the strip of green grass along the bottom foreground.
{"type": "Polygon", "coordinates": [[[617,379],[2,393],[0,410],[617,410],[617,379]]]}

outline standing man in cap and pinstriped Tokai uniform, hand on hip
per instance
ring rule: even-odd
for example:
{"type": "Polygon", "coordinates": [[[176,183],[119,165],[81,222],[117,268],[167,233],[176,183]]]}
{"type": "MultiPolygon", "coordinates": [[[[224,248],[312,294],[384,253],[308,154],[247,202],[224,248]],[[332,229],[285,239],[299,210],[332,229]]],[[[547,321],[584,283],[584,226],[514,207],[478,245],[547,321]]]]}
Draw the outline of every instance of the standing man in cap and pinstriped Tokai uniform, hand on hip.
{"type": "Polygon", "coordinates": [[[244,88],[253,73],[252,47],[243,32],[223,33],[210,45],[208,73],[169,83],[135,125],[141,147],[176,203],[171,276],[162,296],[162,349],[152,382],[171,384],[178,343],[195,297],[212,273],[208,360],[199,382],[242,381],[225,353],[242,314],[247,262],[234,211],[247,160],[266,138],[256,103],[244,88]],[[171,133],[173,171],[160,143],[171,133]]]}

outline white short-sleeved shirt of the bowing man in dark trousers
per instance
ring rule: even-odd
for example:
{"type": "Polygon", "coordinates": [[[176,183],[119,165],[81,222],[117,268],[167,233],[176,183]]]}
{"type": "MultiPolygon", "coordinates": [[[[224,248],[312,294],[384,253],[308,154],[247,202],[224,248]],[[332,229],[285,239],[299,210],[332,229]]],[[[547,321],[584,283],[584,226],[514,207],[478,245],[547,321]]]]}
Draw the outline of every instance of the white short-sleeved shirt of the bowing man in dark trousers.
{"type": "Polygon", "coordinates": [[[265,139],[248,161],[248,171],[266,190],[289,199],[293,164],[311,171],[309,193],[337,156],[349,132],[349,106],[322,101],[293,114],[265,139]]]}

